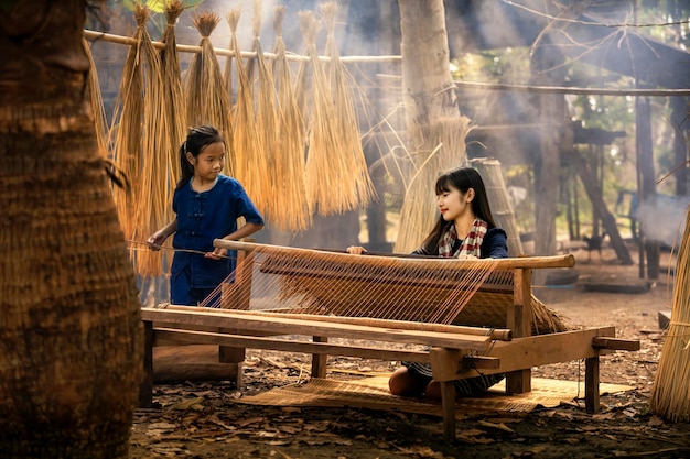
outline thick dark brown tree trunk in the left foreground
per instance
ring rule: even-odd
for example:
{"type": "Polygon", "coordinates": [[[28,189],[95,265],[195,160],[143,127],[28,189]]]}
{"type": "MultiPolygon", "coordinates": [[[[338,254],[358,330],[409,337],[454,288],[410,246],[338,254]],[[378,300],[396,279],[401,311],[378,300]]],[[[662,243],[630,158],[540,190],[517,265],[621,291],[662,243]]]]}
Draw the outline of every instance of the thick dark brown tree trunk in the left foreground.
{"type": "Polygon", "coordinates": [[[0,19],[0,457],[126,458],[134,275],[86,100],[85,3],[0,19]]]}

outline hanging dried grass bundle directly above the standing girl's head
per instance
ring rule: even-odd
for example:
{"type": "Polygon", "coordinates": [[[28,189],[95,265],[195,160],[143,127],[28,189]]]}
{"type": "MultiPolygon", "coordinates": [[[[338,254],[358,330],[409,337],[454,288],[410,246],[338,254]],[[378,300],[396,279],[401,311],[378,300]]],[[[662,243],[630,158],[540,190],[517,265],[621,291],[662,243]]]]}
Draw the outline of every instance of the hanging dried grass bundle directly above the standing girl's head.
{"type": "Polygon", "coordinates": [[[237,159],[233,150],[230,101],[220,65],[209,39],[220,22],[220,17],[214,12],[201,12],[194,14],[192,21],[202,35],[200,43],[202,52],[192,57],[184,79],[186,122],[190,127],[212,124],[218,129],[229,150],[224,173],[235,175],[237,159]]]}

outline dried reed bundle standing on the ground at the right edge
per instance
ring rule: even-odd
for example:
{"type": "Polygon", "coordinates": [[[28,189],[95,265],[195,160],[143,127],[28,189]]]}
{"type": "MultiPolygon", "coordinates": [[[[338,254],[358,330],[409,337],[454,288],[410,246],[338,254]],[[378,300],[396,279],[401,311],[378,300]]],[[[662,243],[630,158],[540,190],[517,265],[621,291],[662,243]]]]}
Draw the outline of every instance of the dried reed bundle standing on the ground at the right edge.
{"type": "Polygon", "coordinates": [[[649,408],[672,422],[690,420],[690,208],[676,260],[671,321],[651,390],[649,408]]]}

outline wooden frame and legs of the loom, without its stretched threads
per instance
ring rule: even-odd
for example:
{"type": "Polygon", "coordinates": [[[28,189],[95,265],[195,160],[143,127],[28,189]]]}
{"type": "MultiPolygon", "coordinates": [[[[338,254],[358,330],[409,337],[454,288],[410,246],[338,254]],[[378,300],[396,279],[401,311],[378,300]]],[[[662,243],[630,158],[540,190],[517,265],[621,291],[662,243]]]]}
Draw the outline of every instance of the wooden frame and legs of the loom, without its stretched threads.
{"type": "MultiPolygon", "coordinates": [[[[313,378],[326,376],[327,356],[425,362],[431,365],[434,380],[441,384],[444,438],[452,441],[455,438],[453,382],[457,379],[476,376],[478,373],[505,373],[506,393],[524,393],[531,390],[532,367],[584,359],[585,407],[593,413],[599,411],[599,357],[613,350],[639,349],[639,341],[616,339],[614,327],[531,335],[531,270],[572,266],[572,255],[496,261],[502,271],[513,273],[510,285],[503,291],[493,285],[482,285],[473,298],[489,295],[489,300],[494,303],[500,303],[496,299],[498,296],[500,300],[507,297],[509,302],[504,308],[505,327],[493,325],[492,328],[485,328],[389,318],[247,310],[247,292],[250,287],[239,287],[251,285],[252,275],[246,267],[251,263],[240,261],[245,256],[252,256],[252,252],[262,245],[222,240],[215,243],[239,251],[235,285],[226,295],[237,302],[238,308],[142,308],[145,376],[140,392],[141,406],[150,406],[152,403],[154,346],[218,346],[220,361],[240,365],[238,385],[241,385],[241,362],[246,348],[312,354],[313,378]],[[395,349],[391,343],[409,346],[395,349]]],[[[459,262],[462,265],[462,261],[459,262]]],[[[280,275],[278,272],[273,274],[280,275]]],[[[304,275],[313,276],[314,273],[304,275]]],[[[393,284],[398,285],[399,280],[393,284]]]]}

